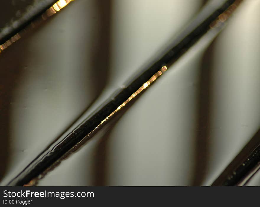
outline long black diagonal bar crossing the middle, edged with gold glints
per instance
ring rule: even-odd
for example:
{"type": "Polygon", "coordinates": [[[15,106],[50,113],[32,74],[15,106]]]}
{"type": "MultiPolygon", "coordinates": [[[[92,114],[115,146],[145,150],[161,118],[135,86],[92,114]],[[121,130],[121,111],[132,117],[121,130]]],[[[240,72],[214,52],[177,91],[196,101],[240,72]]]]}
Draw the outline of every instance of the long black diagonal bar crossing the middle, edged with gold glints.
{"type": "MultiPolygon", "coordinates": [[[[97,110],[90,118],[82,123],[77,129],[73,130],[66,139],[56,146],[51,153],[43,157],[39,162],[32,161],[16,178],[14,178],[8,185],[24,185],[30,182],[31,179],[39,176],[48,167],[58,161],[64,154],[77,145],[84,137],[93,131],[101,121],[103,121],[109,114],[111,114],[116,108],[128,99],[134,92],[137,91],[149,78],[151,78],[163,65],[170,66],[179,57],[181,57],[189,48],[191,48],[207,31],[210,29],[210,25],[214,20],[223,12],[225,12],[235,0],[228,0],[220,8],[217,8],[203,21],[200,21],[197,26],[191,25],[191,31],[188,35],[182,36],[181,41],[171,45],[171,49],[166,49],[165,53],[159,57],[155,63],[137,76],[126,88],[122,89],[118,94],[109,100],[100,110],[97,110]],[[32,167],[33,166],[33,167],[32,167]]],[[[240,1],[236,1],[240,2],[240,1]]],[[[233,11],[233,10],[232,10],[233,11]]],[[[231,12],[232,13],[232,12],[231,12]]],[[[222,22],[220,23],[220,30],[222,22]]],[[[43,152],[46,153],[46,152],[43,152]]],[[[43,154],[42,153],[42,154],[43,154]]],[[[39,155],[40,156],[40,155],[39,155]]]]}

